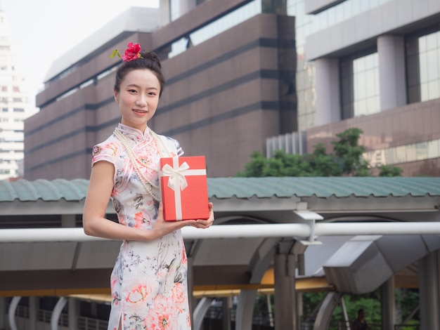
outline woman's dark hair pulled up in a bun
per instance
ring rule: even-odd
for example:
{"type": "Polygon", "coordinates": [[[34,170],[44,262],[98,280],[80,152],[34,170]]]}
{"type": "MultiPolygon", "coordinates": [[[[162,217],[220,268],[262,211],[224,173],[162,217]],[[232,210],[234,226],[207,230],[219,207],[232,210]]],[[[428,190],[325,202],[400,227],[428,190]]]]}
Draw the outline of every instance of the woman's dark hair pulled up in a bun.
{"type": "Polygon", "coordinates": [[[160,60],[157,57],[156,53],[153,51],[143,51],[140,53],[141,57],[136,58],[136,60],[131,60],[128,62],[122,62],[121,65],[117,68],[115,75],[115,91],[119,92],[119,88],[121,86],[121,81],[127,76],[127,74],[133,70],[138,69],[148,69],[151,70],[157,77],[160,83],[160,95],[162,95],[162,91],[165,85],[164,74],[162,74],[162,65],[160,65],[160,60]]]}

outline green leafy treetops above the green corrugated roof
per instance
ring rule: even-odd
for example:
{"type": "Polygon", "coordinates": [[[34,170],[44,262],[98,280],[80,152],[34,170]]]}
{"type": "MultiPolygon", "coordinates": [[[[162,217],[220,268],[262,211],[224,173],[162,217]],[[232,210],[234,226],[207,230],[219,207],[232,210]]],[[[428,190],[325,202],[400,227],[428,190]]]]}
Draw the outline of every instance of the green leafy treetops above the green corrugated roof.
{"type": "MultiPolygon", "coordinates": [[[[358,145],[361,129],[349,128],[332,141],[333,154],[327,153],[322,143],[313,145],[311,154],[286,154],[277,150],[269,159],[259,151],[252,152],[245,164],[245,172],[235,176],[371,176],[368,161],[363,159],[365,147],[358,145]]],[[[396,166],[381,166],[380,176],[401,176],[396,166]]]]}

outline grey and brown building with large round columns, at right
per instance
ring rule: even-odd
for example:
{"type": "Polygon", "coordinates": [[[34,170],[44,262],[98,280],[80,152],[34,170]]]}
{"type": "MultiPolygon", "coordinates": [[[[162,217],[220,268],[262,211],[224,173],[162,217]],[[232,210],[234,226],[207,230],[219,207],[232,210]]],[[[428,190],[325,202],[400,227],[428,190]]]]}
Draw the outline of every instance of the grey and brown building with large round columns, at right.
{"type": "Polygon", "coordinates": [[[297,41],[308,30],[297,86],[313,81],[313,97],[297,91],[309,152],[319,142],[330,150],[336,133],[358,127],[371,166],[440,176],[440,2],[292,2],[304,4],[310,23],[296,16],[297,41]]]}

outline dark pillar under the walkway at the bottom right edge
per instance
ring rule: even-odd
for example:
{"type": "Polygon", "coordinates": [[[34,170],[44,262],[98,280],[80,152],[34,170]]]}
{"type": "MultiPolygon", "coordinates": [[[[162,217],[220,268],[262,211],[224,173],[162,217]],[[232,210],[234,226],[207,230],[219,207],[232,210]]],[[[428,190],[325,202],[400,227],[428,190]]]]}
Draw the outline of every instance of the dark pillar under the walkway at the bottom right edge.
{"type": "Polygon", "coordinates": [[[420,259],[420,330],[440,329],[439,320],[439,251],[420,259]]]}

